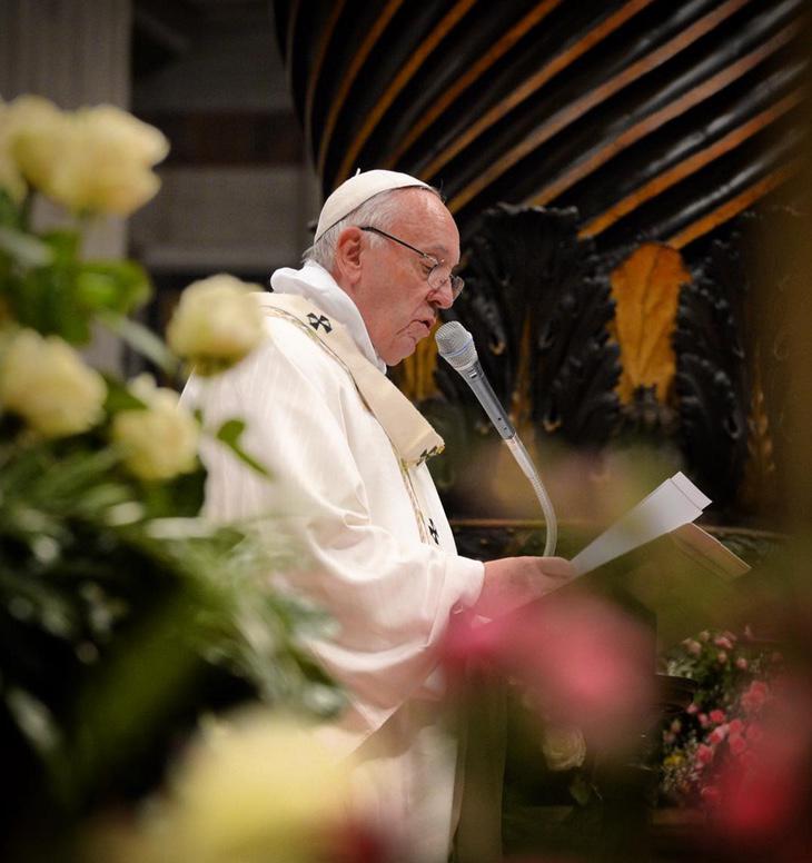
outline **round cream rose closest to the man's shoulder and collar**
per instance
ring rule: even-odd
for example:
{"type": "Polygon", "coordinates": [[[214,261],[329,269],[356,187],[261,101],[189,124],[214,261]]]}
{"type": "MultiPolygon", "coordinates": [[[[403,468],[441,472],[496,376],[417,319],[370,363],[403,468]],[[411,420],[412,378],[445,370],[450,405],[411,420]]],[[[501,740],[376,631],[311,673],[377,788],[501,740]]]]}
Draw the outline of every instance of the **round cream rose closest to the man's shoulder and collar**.
{"type": "Polygon", "coordinates": [[[189,285],[167,327],[167,343],[201,375],[238,363],[263,338],[263,313],[246,285],[227,274],[189,285]]]}

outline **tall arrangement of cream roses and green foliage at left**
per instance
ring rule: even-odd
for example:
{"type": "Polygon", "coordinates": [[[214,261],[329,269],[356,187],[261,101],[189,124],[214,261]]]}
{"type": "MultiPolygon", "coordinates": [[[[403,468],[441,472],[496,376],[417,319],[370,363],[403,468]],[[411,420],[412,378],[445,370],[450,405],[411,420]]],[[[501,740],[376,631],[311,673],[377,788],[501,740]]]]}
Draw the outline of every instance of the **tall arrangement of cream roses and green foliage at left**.
{"type": "Polygon", "coordinates": [[[82,255],[90,220],[157,192],[168,147],[110,106],[0,101],[0,725],[7,781],[31,788],[6,807],[12,833],[27,807],[65,817],[142,792],[179,717],[194,724],[212,700],[341,703],[301,646],[324,615],[269,578],[293,565],[286,540],[201,517],[205,436],[267,473],[240,447],[242,421],[209,428],[172,386],[80,354],[107,327],[171,385],[260,339],[255,286],[190,286],[165,344],[130,317],[151,292],[145,270],[82,255]],[[61,227],[37,229],[37,196],[63,208],[61,227]]]}

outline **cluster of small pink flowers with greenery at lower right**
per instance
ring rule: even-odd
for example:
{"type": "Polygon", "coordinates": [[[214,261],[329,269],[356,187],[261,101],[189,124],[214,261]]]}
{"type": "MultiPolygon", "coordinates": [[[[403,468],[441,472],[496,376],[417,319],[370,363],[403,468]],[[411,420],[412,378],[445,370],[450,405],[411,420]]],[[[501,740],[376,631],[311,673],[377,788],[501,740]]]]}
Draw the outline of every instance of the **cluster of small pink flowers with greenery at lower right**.
{"type": "Polygon", "coordinates": [[[780,652],[755,642],[750,631],[703,631],[685,639],[667,661],[667,673],[699,684],[682,716],[663,730],[661,791],[681,805],[713,806],[719,777],[730,762],[746,766],[763,736],[763,716],[775,698],[780,652]]]}

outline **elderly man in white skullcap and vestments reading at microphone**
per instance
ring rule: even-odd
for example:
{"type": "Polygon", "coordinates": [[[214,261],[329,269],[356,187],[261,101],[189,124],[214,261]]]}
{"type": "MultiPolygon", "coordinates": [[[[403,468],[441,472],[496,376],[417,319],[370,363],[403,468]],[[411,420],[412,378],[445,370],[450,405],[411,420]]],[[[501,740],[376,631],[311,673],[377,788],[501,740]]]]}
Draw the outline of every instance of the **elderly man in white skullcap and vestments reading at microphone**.
{"type": "Polygon", "coordinates": [[[462,290],[459,235],[435,189],[373,170],[325,202],[301,269],[280,269],[264,346],[211,381],[212,420],[248,420],[265,483],[225,452],[207,456],[218,518],[284,515],[309,557],[295,586],[337,635],[314,645],[346,687],[329,740],[358,764],[359,795],[405,825],[415,860],[444,861],[454,825],[455,745],[438,727],[437,645],[457,608],[506,586],[560,585],[558,558],[461,557],[426,467],[443,442],[386,377],[462,290]]]}

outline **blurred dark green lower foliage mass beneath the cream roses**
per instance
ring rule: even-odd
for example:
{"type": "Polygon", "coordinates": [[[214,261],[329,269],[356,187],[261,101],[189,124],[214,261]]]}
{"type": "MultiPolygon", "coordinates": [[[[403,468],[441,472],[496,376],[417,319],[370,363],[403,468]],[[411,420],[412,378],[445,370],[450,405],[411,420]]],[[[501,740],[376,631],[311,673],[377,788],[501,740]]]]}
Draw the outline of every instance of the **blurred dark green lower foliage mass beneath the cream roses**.
{"type": "Polygon", "coordinates": [[[92,435],[0,449],[0,698],[65,805],[129,775],[207,667],[341,705],[301,644],[328,622],[269,579],[289,552],[199,519],[204,478],[139,483],[92,435]]]}

